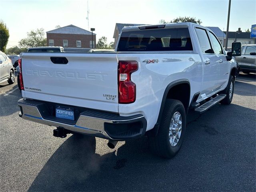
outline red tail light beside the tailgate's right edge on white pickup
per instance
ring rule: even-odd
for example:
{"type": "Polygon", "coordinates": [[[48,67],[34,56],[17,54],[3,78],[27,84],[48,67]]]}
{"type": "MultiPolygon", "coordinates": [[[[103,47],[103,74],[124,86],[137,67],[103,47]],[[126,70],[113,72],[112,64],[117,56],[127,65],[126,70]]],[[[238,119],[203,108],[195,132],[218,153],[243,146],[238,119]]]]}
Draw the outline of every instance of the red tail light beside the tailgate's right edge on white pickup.
{"type": "Polygon", "coordinates": [[[136,99],[136,85],[131,81],[132,72],[138,69],[136,61],[118,62],[118,102],[133,103],[136,99]]]}

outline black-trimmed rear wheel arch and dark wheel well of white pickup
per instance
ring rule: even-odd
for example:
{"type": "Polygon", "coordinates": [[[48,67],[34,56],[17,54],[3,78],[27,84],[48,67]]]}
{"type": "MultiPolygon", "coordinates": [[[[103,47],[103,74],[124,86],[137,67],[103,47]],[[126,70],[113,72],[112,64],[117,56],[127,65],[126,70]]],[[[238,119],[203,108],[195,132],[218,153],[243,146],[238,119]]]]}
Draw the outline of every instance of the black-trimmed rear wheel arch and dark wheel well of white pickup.
{"type": "Polygon", "coordinates": [[[188,108],[189,108],[189,102],[190,102],[190,82],[189,82],[189,80],[187,80],[187,79],[176,80],[176,81],[168,84],[168,86],[166,86],[166,89],[164,91],[164,95],[162,98],[157,122],[156,122],[154,128],[152,130],[149,130],[147,133],[150,136],[155,136],[158,133],[160,120],[162,118],[162,113],[164,110],[164,104],[166,102],[166,99],[180,100],[182,102],[182,104],[184,105],[184,108],[185,108],[185,111],[187,114],[188,108]],[[175,91],[179,91],[179,92],[175,92],[175,91]],[[182,94],[184,92],[186,94],[182,94]]]}

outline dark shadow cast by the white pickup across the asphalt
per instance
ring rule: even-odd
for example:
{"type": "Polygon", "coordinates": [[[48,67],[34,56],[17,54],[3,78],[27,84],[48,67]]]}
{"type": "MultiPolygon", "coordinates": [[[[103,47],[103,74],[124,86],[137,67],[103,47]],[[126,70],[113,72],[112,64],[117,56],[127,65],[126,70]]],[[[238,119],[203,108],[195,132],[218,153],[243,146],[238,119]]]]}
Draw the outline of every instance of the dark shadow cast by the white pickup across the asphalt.
{"type": "Polygon", "coordinates": [[[256,122],[252,117],[256,110],[231,104],[216,105],[209,111],[202,115],[189,112],[182,149],[170,160],[153,155],[147,137],[127,141],[116,151],[100,156],[95,153],[95,138],[72,135],[46,162],[28,191],[204,191],[225,190],[230,182],[237,190],[244,190],[239,182],[234,183],[239,180],[235,173],[253,174],[248,164],[255,159],[244,148],[255,148],[252,133],[256,122]],[[228,121],[230,111],[238,116],[228,121]],[[249,119],[249,126],[240,132],[237,125],[249,119]],[[234,145],[239,139],[252,142],[234,145]],[[223,146],[225,150],[220,150],[223,146]],[[243,163],[234,166],[236,161],[243,163]],[[207,177],[212,184],[203,188],[207,177]],[[197,179],[193,182],[191,178],[197,179]]]}

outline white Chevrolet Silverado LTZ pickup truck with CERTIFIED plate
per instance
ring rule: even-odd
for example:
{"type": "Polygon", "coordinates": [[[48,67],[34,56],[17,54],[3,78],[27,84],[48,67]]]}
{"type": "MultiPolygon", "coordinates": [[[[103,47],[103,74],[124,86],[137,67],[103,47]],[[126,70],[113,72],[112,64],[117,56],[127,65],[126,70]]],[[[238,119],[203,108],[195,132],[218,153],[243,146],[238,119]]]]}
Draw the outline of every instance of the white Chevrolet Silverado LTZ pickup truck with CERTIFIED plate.
{"type": "Polygon", "coordinates": [[[198,24],[125,27],[116,52],[22,53],[20,117],[117,141],[147,135],[155,152],[174,156],[190,108],[230,104],[241,43],[224,51],[198,24]]]}

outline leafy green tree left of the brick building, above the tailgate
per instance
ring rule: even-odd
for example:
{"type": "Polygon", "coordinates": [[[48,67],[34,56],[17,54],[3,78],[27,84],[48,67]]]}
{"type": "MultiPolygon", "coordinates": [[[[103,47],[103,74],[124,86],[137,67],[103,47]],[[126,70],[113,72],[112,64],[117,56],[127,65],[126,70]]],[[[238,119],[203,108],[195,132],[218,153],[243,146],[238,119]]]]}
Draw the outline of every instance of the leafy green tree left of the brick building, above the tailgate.
{"type": "Polygon", "coordinates": [[[28,37],[19,41],[22,48],[46,46],[45,32],[43,28],[32,30],[27,33],[28,37]]]}

